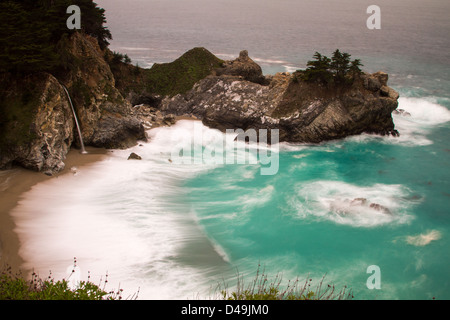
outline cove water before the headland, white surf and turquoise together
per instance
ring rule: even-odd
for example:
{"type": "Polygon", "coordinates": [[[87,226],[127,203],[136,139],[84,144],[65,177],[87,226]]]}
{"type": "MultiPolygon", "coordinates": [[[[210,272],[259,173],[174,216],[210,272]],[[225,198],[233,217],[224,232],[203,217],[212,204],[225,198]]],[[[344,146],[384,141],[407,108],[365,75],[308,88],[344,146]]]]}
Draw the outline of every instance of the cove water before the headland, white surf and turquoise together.
{"type": "Polygon", "coordinates": [[[273,175],[261,164],[195,164],[198,154],[168,161],[180,146],[229,139],[200,122],[150,130],[149,142],[24,196],[13,216],[25,266],[67,277],[77,257],[81,279],[107,272],[141,299],[211,298],[259,266],[269,279],[325,276],[356,299],[448,299],[450,112],[423,98],[400,105],[411,112],[394,116],[400,138],[281,144],[273,175]],[[370,290],[373,265],[381,288],[370,290]]]}

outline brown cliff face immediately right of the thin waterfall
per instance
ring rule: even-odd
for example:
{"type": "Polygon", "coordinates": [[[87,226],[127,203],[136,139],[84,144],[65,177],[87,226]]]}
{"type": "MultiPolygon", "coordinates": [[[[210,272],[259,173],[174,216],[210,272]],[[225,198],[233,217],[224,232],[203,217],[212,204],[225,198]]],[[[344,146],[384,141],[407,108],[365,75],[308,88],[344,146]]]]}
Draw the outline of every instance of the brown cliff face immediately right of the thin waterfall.
{"type": "Polygon", "coordinates": [[[131,115],[131,104],[115,87],[115,79],[97,41],[75,33],[69,52],[82,61],[62,77],[77,108],[85,144],[127,148],[145,139],[141,122],[131,115]]]}

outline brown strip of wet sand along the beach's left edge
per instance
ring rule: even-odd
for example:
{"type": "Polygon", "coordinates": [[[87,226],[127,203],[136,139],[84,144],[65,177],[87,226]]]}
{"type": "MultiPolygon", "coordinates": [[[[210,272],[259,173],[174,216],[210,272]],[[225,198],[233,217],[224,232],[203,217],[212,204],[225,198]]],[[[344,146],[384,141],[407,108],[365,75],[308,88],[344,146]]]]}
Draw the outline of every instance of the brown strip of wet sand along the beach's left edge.
{"type": "Polygon", "coordinates": [[[82,167],[107,157],[108,151],[87,147],[88,154],[81,154],[79,150],[72,149],[67,155],[65,169],[51,177],[44,173],[33,172],[23,168],[0,171],[0,271],[11,267],[13,271],[28,273],[23,270],[23,260],[19,255],[20,240],[15,233],[15,223],[10,215],[24,194],[36,184],[48,179],[57,179],[58,176],[70,173],[70,168],[82,167]]]}

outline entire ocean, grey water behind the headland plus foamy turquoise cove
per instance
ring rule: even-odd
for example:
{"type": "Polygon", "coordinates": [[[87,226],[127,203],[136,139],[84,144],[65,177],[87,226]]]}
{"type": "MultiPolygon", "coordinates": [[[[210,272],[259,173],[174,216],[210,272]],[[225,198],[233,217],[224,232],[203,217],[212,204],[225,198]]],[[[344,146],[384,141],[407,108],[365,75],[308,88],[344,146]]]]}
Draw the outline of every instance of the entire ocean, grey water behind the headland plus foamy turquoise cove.
{"type": "Polygon", "coordinates": [[[194,47],[223,59],[245,49],[274,74],[339,48],[364,71],[387,72],[409,116],[393,115],[398,138],[281,143],[273,175],[261,163],[172,162],[175,145],[202,149],[229,136],[189,120],[152,129],[148,142],[24,196],[13,217],[26,267],[65,277],[76,257],[79,279],[107,274],[139,299],[211,297],[258,268],[269,279],[325,277],[360,300],[450,298],[448,1],[377,0],[374,30],[365,0],[97,3],[111,49],[141,67],[194,47]],[[128,161],[131,152],[142,160],[128,161]]]}

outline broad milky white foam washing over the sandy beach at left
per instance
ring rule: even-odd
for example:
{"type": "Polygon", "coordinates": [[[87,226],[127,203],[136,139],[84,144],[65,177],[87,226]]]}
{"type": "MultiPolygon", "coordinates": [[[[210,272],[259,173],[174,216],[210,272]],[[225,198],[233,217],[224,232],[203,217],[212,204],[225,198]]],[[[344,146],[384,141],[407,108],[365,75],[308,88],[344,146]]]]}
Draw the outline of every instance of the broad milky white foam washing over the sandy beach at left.
{"type": "Polygon", "coordinates": [[[143,299],[185,299],[209,288],[205,270],[176,260],[190,241],[205,237],[186,214],[181,184],[210,166],[176,165],[167,157],[188,125],[151,130],[149,143],[114,150],[104,161],[78,167],[76,175],[29,191],[12,212],[24,268],[65,278],[76,257],[77,277],[85,280],[89,271],[95,283],[108,273],[113,289],[119,283],[129,293],[139,289],[143,299]],[[131,152],[142,160],[127,160],[131,152]]]}

